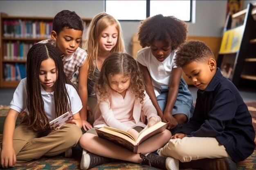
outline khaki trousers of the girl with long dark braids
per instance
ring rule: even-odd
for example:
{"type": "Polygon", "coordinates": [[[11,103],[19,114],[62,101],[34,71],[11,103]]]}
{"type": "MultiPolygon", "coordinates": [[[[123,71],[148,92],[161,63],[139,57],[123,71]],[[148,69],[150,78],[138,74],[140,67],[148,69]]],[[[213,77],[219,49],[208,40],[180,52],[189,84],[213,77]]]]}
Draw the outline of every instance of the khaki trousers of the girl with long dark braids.
{"type": "MultiPolygon", "coordinates": [[[[76,146],[82,136],[81,129],[75,124],[64,124],[60,129],[45,137],[29,130],[25,123],[19,124],[13,134],[13,148],[17,163],[39,159],[43,155],[54,156],[76,146]]],[[[2,144],[0,145],[1,152],[2,144]]]]}

